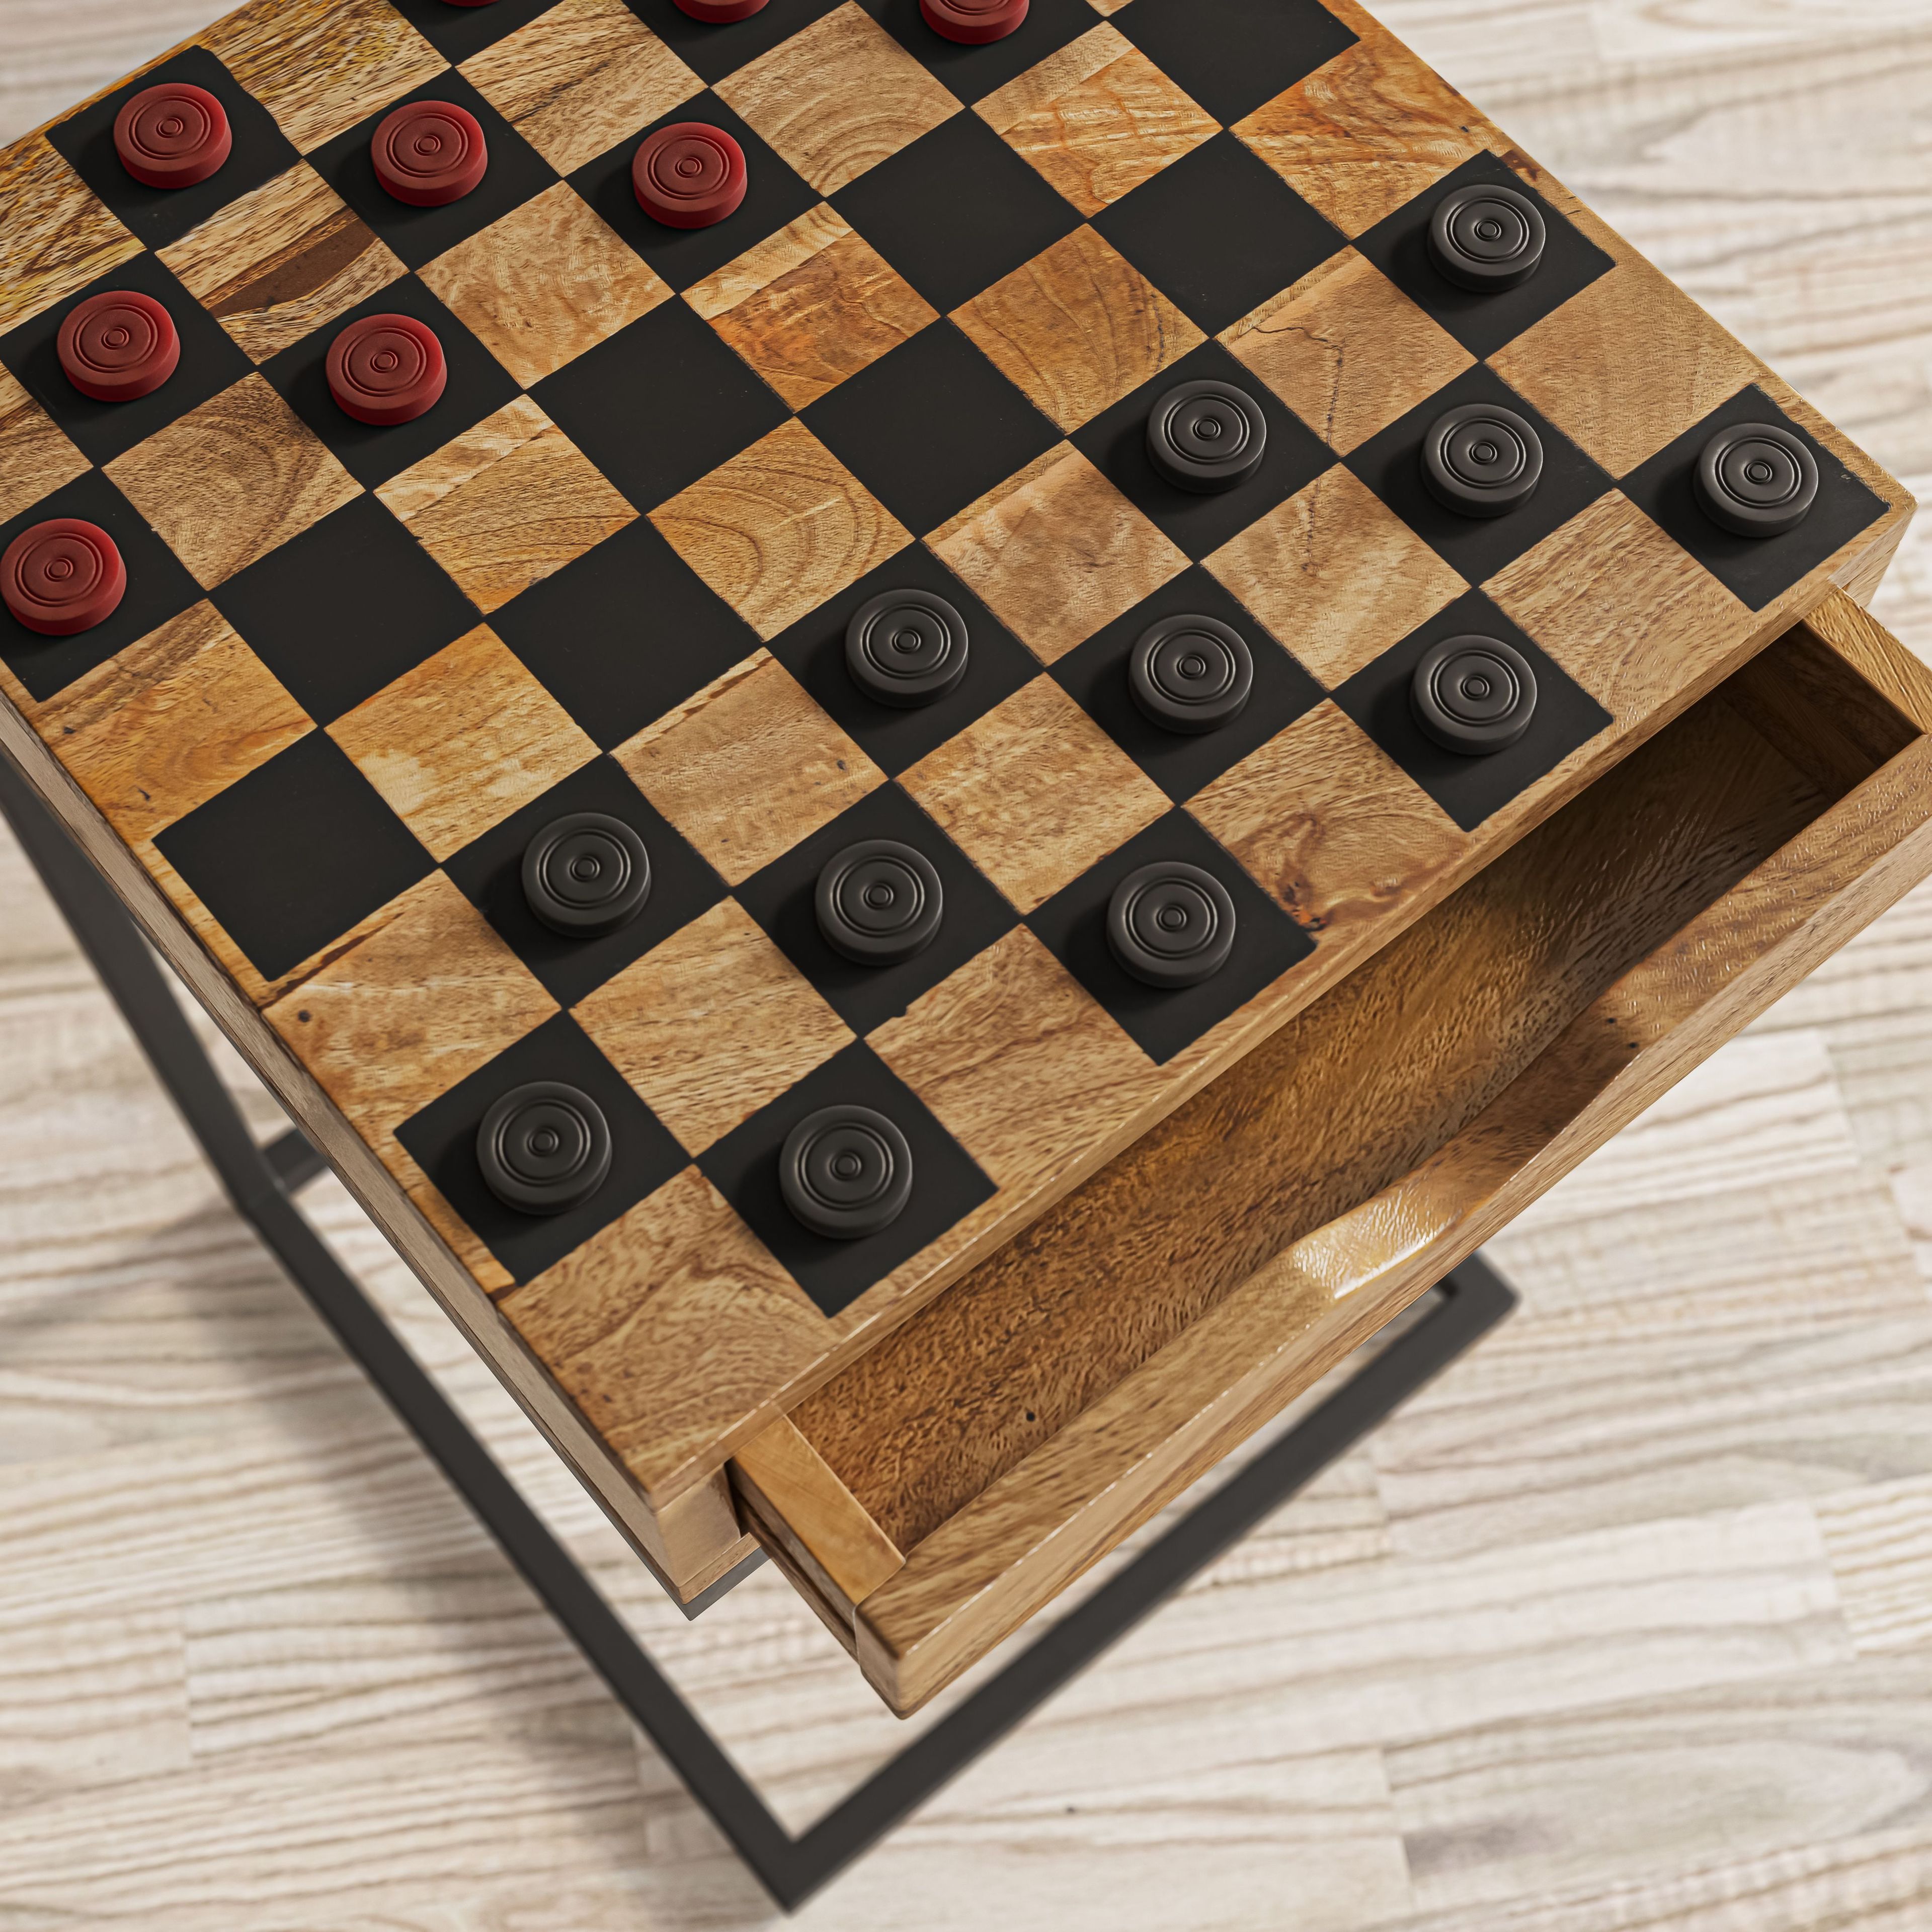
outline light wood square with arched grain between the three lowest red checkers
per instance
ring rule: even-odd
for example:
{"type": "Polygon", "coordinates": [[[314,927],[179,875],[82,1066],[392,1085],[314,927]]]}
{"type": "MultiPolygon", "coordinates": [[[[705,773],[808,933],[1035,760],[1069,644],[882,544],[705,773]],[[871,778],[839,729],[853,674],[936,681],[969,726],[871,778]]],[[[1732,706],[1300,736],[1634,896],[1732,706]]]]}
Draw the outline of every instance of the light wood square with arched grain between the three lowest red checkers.
{"type": "Polygon", "coordinates": [[[261,375],[156,429],[106,473],[203,589],[361,495],[261,375]]]}

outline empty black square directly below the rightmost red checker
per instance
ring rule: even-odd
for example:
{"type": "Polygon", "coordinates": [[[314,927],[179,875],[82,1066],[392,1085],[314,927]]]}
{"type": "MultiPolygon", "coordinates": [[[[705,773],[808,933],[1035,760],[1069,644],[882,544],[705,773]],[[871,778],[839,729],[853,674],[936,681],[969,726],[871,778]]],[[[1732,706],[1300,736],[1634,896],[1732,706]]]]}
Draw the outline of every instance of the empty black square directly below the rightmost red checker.
{"type": "Polygon", "coordinates": [[[1080,211],[970,112],[867,168],[833,207],[941,315],[1080,226],[1080,211]]]}

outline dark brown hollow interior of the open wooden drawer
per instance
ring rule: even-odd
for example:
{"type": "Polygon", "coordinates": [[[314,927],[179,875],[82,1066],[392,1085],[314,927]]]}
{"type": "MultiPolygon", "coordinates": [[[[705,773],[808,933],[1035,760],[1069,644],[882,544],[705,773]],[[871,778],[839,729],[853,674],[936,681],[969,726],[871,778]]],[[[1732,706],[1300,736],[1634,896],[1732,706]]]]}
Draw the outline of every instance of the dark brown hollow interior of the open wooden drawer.
{"type": "MultiPolygon", "coordinates": [[[[1845,611],[1868,643],[1870,620],[1845,611]]],[[[1922,750],[1917,667],[1891,651],[1874,680],[1820,630],[1779,639],[753,1445],[738,1470],[748,1513],[788,1546],[827,1621],[864,1638],[873,1590],[898,1588],[989,1492],[1022,1493],[1070,1426],[1119,1403],[1277,1256],[1468,1136],[1633,968],[1922,750]],[[858,1555],[842,1548],[854,1536],[858,1555]]],[[[1607,1045],[1615,1065],[1650,1049],[1607,1045]]],[[[1248,1426],[1293,1393],[1283,1383],[1248,1426]]],[[[1169,1457],[1171,1480],[1122,1497],[1111,1540],[1208,1461],[1206,1443],[1169,1457]]],[[[1010,1609],[991,1621],[1010,1625],[1010,1609]]],[[[910,1702],[910,1683],[881,1689],[910,1702]]]]}

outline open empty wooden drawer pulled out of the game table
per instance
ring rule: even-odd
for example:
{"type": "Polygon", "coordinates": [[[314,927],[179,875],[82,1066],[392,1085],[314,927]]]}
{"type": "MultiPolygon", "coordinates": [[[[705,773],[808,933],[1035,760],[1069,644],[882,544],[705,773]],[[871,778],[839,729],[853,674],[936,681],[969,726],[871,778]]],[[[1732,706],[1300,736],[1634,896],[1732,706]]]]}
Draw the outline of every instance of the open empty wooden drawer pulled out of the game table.
{"type": "Polygon", "coordinates": [[[912,1712],[1932,871],[1837,595],[732,1463],[912,1712]]]}

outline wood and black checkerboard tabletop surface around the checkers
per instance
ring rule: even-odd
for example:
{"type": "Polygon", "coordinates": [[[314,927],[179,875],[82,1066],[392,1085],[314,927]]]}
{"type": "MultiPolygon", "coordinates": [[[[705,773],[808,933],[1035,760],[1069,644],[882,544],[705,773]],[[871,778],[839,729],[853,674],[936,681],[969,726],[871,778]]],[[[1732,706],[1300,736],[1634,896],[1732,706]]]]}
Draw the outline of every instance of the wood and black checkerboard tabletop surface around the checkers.
{"type": "Polygon", "coordinates": [[[1034,0],[989,46],[916,0],[724,27],[672,0],[253,0],[15,143],[0,185],[0,545],[87,516],[131,585],[77,638],[0,618],[8,697],[514,1316],[554,1323],[701,1198],[697,1246],[755,1256],[757,1304],[802,1316],[773,1323],[773,1387],[1246,1051],[1895,514],[1352,0],[1034,0]],[[156,77],[236,129],[174,195],[112,151],[156,77]],[[369,164],[415,99],[489,139],[448,207],[390,201],[369,164]],[[748,156],[711,228],[630,191],[680,120],[748,156]],[[1472,180],[1548,222],[1509,294],[1426,257],[1472,180]],[[79,398],[54,359],[102,288],[182,330],[137,404],[79,398]],[[323,373],[377,311],[429,323],[450,367],[392,429],[323,373]],[[1198,377],[1269,423],[1219,497],[1163,483],[1142,439],[1198,377]],[[1420,485],[1426,425],[1468,400],[1544,439],[1538,497],[1493,522],[1420,485]],[[1689,498],[1737,415],[1820,454],[1789,537],[1743,545],[1689,498]],[[904,585],[972,634],[923,711],[842,667],[850,612],[904,585]],[[1126,697],[1173,612],[1254,647],[1223,732],[1165,736],[1126,697]],[[1497,757],[1408,719],[1410,667],[1455,630],[1536,667],[1536,726],[1497,757]],[[655,867],[643,916],[587,943],[518,891],[533,829],[580,810],[636,825],[655,867]],[[864,972],[810,895],[871,837],[931,856],[947,923],[864,972]],[[1184,993],[1101,943],[1150,858],[1240,910],[1231,966],[1184,993]],[[471,1151],[539,1076],[593,1092],[616,1138],[611,1180],[549,1221],[502,1209],[471,1151]],[[790,1223],[773,1179],[833,1097],[898,1121],[920,1171],[914,1209],[848,1244],[790,1223]]]}

